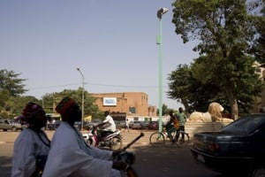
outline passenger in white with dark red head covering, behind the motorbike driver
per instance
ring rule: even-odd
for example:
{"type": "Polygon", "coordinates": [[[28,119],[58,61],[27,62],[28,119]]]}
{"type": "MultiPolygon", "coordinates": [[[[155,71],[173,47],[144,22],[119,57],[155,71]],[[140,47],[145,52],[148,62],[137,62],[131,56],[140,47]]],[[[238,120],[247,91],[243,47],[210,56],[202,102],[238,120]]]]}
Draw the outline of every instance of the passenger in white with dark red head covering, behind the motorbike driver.
{"type": "Polygon", "coordinates": [[[14,143],[11,177],[42,176],[50,144],[42,130],[47,124],[45,112],[41,105],[30,102],[19,118],[26,121],[28,127],[14,143]]]}

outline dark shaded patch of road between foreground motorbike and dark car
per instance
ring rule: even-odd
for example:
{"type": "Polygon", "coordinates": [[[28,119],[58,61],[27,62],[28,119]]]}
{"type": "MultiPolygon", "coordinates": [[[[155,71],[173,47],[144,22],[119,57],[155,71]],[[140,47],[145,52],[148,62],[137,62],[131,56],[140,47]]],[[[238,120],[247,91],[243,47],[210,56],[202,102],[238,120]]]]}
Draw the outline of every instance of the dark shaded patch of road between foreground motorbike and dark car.
{"type": "Polygon", "coordinates": [[[154,148],[145,145],[133,147],[131,150],[136,153],[136,163],[133,166],[139,176],[221,177],[219,173],[195,163],[190,147],[169,145],[154,148]]]}

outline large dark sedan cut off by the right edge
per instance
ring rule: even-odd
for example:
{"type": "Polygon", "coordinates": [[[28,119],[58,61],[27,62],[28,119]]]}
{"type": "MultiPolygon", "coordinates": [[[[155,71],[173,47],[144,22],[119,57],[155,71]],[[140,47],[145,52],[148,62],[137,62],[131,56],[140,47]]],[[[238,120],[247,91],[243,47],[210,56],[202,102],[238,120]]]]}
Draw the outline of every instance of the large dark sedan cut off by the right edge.
{"type": "Polygon", "coordinates": [[[237,119],[221,132],[193,135],[191,152],[197,162],[219,173],[264,176],[265,114],[237,119]]]}

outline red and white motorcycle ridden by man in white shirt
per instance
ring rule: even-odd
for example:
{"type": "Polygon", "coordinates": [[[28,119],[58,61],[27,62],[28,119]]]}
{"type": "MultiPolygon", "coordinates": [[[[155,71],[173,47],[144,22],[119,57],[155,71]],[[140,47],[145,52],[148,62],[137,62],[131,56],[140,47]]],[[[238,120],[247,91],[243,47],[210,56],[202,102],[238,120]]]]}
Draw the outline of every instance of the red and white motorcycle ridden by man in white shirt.
{"type": "Polygon", "coordinates": [[[90,146],[95,146],[102,149],[120,150],[123,146],[123,137],[120,135],[121,131],[107,132],[102,134],[102,130],[98,126],[93,126],[88,130],[87,134],[83,134],[84,139],[90,146]],[[98,133],[101,132],[100,137],[98,133]]]}

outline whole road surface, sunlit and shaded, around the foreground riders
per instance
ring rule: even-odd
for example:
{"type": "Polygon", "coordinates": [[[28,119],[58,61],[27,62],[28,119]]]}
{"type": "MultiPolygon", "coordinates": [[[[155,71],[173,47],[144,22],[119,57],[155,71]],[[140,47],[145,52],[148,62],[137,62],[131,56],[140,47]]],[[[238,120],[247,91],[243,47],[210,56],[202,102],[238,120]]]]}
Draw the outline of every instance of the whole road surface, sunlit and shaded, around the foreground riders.
{"type": "MultiPolygon", "coordinates": [[[[193,161],[190,147],[179,148],[170,143],[162,148],[154,148],[149,145],[148,137],[153,133],[148,130],[131,130],[122,133],[124,145],[140,135],[145,134],[138,142],[135,142],[128,151],[136,154],[136,163],[133,165],[140,177],[164,176],[164,177],[221,177],[219,173],[213,172],[193,161]]],[[[19,135],[18,132],[0,132],[0,176],[11,176],[11,157],[13,142],[19,135]]],[[[54,131],[47,131],[52,138],[54,131]]],[[[223,176],[222,176],[223,177],[223,176]]]]}

